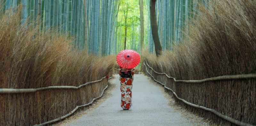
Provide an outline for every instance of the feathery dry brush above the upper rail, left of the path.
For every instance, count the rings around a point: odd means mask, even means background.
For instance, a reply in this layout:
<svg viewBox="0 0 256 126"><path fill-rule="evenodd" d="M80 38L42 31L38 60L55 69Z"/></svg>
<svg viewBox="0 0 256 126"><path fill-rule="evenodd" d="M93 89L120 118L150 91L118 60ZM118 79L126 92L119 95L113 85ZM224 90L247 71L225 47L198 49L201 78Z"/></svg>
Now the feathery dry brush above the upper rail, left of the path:
<svg viewBox="0 0 256 126"><path fill-rule="evenodd" d="M107 75L115 61L73 50L66 36L20 26L19 13L1 18L0 28L0 88L77 86Z"/></svg>

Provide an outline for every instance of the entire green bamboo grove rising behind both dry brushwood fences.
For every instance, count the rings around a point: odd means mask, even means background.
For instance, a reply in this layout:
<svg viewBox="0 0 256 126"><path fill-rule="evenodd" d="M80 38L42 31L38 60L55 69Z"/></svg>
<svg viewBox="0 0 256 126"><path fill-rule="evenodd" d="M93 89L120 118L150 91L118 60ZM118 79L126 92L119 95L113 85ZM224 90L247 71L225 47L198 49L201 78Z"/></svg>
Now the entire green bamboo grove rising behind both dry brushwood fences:
<svg viewBox="0 0 256 126"><path fill-rule="evenodd" d="M143 1L144 45L154 53L150 26L150 0ZM22 4L22 24L40 24L39 30L74 37L75 48L106 56L123 49L140 52L140 6L134 0L0 0L1 12L17 11ZM86 4L84 4L86 3ZM172 50L188 34L189 23L196 18L198 5L209 0L157 0L156 20L160 43ZM86 11L85 11L86 10ZM40 18L38 18L40 17Z"/></svg>

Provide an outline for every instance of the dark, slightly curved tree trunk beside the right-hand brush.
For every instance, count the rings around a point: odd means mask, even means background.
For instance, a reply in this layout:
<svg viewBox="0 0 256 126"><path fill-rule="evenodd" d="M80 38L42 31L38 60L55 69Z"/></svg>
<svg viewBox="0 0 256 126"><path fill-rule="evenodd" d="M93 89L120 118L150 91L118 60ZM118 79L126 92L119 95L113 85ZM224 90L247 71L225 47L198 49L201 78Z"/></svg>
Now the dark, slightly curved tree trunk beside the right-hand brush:
<svg viewBox="0 0 256 126"><path fill-rule="evenodd" d="M157 24L156 24L156 0L150 0L150 21L152 29L152 37L155 43L156 56L160 56L162 53L162 47L160 44L159 36L157 33Z"/></svg>

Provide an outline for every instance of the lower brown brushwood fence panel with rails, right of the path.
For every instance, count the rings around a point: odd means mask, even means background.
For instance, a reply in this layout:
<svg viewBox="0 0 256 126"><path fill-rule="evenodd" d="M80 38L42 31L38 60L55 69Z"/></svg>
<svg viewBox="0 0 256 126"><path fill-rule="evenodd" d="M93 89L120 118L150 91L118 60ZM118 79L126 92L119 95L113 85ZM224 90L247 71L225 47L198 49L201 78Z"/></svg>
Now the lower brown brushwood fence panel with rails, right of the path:
<svg viewBox="0 0 256 126"><path fill-rule="evenodd" d="M256 80L256 74L233 76L227 75L206 78L203 80L176 80L174 77L170 77L165 73L156 72L152 67L148 65L147 61L146 66L145 61L143 67L144 71L146 71L145 74L152 77L157 83L162 84L166 89L172 91L170 93L175 96L175 100L178 101L179 104L182 104L186 107L191 106L188 107L189 110L197 112L207 117L208 119L221 123L222 125L227 125L229 122L240 126L253 126L256 124L256 119L253 118L256 116L253 111L253 107L255 106L253 105L256 104L252 105L246 94L242 92L235 92L234 87L230 85L225 86L222 89L217 89L218 87L223 87L224 84L226 85L228 83L234 83L235 81L238 81L240 84L244 83L244 85L248 85L245 87L246 89L252 86L252 82ZM238 85L235 86L235 89L240 89L240 87L243 87ZM213 88L215 88L215 90L212 90ZM233 88L231 91L229 91L232 93L228 94L226 92L228 91L228 88ZM256 95L255 92L254 94ZM237 101L240 100L239 98L242 99L242 102L247 103L239 103ZM255 103L255 97L251 100L254 100ZM197 108L208 112L203 112ZM220 120L219 117L222 119ZM229 122L225 122L223 119Z"/></svg>

